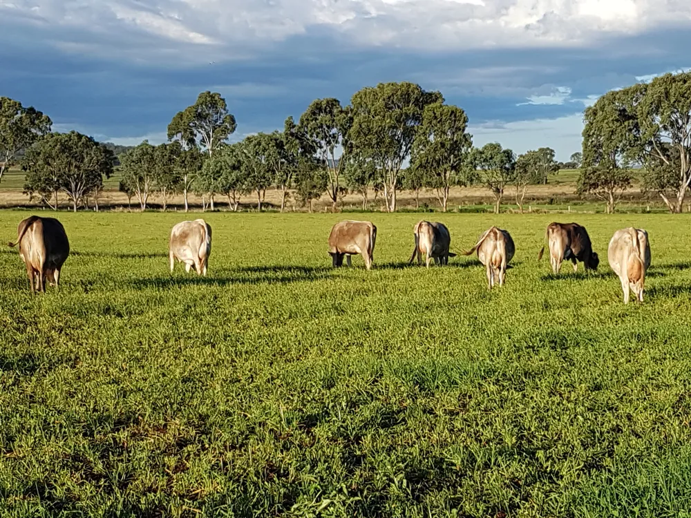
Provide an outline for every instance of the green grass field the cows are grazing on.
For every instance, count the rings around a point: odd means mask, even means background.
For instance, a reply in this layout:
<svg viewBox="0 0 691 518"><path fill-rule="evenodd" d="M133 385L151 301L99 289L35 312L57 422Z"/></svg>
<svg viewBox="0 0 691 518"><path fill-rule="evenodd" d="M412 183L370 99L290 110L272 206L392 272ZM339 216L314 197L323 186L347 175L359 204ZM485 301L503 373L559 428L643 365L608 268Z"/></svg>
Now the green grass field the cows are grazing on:
<svg viewBox="0 0 691 518"><path fill-rule="evenodd" d="M208 278L167 269L181 214L59 213L59 293L0 251L0 516L690 516L689 215L579 215L600 271L559 278L536 256L571 218L435 215L453 251L511 232L492 292L475 258L404 266L419 214L365 215L369 272L330 267L343 215L204 217Z"/></svg>

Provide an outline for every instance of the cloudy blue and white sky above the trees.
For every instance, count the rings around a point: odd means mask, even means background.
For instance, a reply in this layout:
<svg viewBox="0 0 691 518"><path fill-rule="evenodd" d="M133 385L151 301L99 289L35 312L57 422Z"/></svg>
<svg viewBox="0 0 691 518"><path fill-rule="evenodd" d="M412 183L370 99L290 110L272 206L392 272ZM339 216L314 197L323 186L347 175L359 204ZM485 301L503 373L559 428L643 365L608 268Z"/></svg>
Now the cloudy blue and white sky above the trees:
<svg viewBox="0 0 691 518"><path fill-rule="evenodd" d="M688 0L0 0L0 96L159 143L220 92L232 140L379 82L439 90L475 145L580 151L600 95L691 66Z"/></svg>

